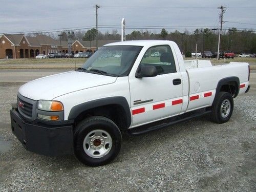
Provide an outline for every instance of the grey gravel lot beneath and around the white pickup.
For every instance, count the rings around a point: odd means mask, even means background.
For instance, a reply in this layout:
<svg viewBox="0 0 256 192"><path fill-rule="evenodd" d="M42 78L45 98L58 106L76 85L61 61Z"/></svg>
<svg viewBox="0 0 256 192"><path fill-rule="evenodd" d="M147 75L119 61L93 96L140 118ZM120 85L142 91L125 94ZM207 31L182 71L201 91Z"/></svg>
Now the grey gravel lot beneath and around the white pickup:
<svg viewBox="0 0 256 192"><path fill-rule="evenodd" d="M234 100L229 122L205 116L123 136L119 156L101 167L23 148L9 117L20 84L0 83L0 191L256 191L255 83Z"/></svg>

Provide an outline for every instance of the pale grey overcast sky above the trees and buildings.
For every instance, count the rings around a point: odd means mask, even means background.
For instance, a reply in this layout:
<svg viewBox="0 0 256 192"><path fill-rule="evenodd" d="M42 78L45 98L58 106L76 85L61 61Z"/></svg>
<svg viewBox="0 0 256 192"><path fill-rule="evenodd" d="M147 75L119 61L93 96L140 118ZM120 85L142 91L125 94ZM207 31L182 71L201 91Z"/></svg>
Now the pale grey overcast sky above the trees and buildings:
<svg viewBox="0 0 256 192"><path fill-rule="evenodd" d="M0 0L0 34L95 27L95 4L102 7L98 10L101 32L119 27L122 17L127 28L217 28L220 25L217 7L221 5L227 7L224 28L256 29L256 1L252 0ZM127 29L126 34L133 30Z"/></svg>

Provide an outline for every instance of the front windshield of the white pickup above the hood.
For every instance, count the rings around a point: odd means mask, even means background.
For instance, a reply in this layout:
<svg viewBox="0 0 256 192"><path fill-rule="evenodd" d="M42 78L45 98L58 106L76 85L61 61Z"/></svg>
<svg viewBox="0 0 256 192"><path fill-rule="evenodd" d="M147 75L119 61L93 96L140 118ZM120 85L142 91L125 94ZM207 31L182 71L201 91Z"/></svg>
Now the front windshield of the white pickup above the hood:
<svg viewBox="0 0 256 192"><path fill-rule="evenodd" d="M141 49L141 46L101 47L81 68L101 75L127 76Z"/></svg>

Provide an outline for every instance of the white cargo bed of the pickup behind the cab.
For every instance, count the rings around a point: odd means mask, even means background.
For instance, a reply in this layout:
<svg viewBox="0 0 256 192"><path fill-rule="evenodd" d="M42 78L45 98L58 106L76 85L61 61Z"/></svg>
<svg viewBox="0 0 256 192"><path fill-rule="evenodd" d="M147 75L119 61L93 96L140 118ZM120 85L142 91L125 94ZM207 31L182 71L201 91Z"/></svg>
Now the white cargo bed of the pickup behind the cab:
<svg viewBox="0 0 256 192"><path fill-rule="evenodd" d="M216 94L218 82L226 77L238 77L239 94L248 88L248 66L246 62L230 62L212 66L208 60L184 61L189 82L187 111L210 106ZM195 99L195 100L194 100Z"/></svg>

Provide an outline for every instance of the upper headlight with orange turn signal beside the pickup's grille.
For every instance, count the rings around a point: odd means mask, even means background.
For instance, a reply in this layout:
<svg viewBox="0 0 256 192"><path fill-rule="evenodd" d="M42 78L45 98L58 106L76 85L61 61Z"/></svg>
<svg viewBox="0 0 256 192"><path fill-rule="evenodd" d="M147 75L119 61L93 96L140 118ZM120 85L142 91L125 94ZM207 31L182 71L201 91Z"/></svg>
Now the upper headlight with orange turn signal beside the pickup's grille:
<svg viewBox="0 0 256 192"><path fill-rule="evenodd" d="M39 100L37 102L37 109L44 111L63 111L63 104L59 101Z"/></svg>

